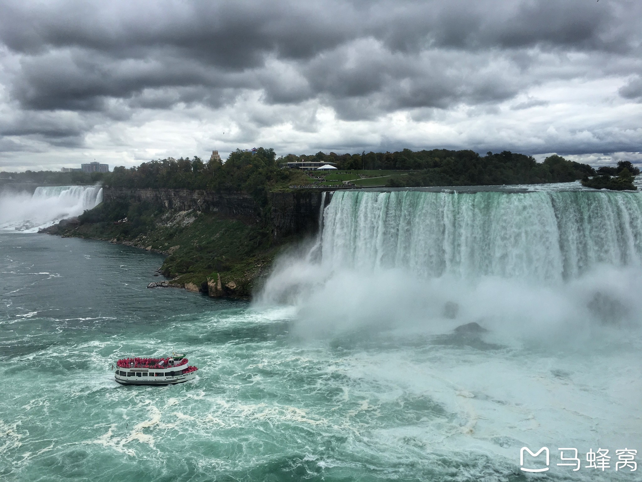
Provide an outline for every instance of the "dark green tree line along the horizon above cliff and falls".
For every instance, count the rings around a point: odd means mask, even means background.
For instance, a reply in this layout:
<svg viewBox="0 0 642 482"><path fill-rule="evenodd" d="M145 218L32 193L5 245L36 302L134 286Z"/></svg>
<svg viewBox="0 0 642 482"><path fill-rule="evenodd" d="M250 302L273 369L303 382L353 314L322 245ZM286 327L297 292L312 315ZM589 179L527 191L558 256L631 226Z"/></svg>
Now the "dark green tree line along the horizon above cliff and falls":
<svg viewBox="0 0 642 482"><path fill-rule="evenodd" d="M246 192L266 206L268 192L287 188L291 184L311 182L304 172L284 168L288 162L318 161L333 163L340 170L401 170L408 175L392 177L388 185L401 186L470 186L492 184L563 183L587 179L590 176L619 175L623 168L630 174L639 170L628 161L618 166L602 167L596 171L587 164L553 155L542 163L534 157L510 151L487 152L481 156L473 150L433 149L398 152L361 152L342 154L317 152L313 156L288 154L277 159L272 148L256 152L236 150L226 161L198 156L157 159L139 166L119 166L110 173L83 172L24 172L14 179L29 179L39 183L92 183L101 181L117 188L170 188L212 190L217 192ZM621 166L620 166L621 165ZM611 170L613 173L611 174ZM62 179L64 177L64 179ZM52 182L53 181L53 182Z"/></svg>

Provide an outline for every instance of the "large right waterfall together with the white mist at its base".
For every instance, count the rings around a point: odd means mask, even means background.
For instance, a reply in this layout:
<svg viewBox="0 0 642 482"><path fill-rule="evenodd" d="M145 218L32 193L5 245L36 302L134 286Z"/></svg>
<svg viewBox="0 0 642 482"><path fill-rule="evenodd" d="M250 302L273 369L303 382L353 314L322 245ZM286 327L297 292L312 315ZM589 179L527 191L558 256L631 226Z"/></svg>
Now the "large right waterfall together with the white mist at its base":
<svg viewBox="0 0 642 482"><path fill-rule="evenodd" d="M337 192L312 253L281 260L261 301L296 305L317 331L639 325L637 193Z"/></svg>

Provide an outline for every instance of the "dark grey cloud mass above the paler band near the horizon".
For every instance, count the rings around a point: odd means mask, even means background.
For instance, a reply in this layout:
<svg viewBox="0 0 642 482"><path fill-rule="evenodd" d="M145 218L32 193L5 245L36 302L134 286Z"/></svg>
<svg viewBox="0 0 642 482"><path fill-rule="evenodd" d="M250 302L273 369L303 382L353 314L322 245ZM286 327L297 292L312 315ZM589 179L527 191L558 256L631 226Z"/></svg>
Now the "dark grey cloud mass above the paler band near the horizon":
<svg viewBox="0 0 642 482"><path fill-rule="evenodd" d="M542 85L616 77L628 79L615 89L619 98L637 102L641 31L637 0L50 1L38 8L5 1L0 43L8 60L0 82L13 121L1 124L0 134L80 147L83 136L109 123L125 129L143 111L171 116L232 106L238 120L254 122L239 127L249 138L261 139L276 124L320 129L293 111L250 112L239 99L252 93L274 109L316 103L353 123L399 111L437 119L434 109L501 116L497 106L505 102L527 115L552 105L531 92ZM78 118L41 115L48 112ZM541 147L549 151L587 152L598 141L603 150L639 145L598 131L573 134L582 129L593 127L569 126L564 140L526 134L521 149L535 149L535 138L557 143ZM381 132L377 142L411 143L382 140L391 135ZM492 140L501 142L520 148L513 139ZM475 146L458 145L455 136L452 147Z"/></svg>

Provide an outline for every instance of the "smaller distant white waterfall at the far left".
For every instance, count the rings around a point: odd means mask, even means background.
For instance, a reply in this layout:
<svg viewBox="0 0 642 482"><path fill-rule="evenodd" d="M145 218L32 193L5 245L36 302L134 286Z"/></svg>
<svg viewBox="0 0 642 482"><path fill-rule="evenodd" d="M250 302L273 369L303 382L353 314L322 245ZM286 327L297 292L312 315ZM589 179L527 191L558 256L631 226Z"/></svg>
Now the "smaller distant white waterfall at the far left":
<svg viewBox="0 0 642 482"><path fill-rule="evenodd" d="M0 230L37 231L78 216L103 201L101 186L46 186L29 193L0 193Z"/></svg>

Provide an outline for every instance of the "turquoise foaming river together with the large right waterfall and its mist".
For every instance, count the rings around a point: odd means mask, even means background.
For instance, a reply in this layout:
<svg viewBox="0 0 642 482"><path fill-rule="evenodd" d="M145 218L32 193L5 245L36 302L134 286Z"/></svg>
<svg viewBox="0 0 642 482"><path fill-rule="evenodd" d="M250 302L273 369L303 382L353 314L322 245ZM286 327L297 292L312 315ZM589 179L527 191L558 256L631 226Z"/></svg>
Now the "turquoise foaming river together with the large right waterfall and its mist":
<svg viewBox="0 0 642 482"><path fill-rule="evenodd" d="M0 235L0 474L516 481L546 446L548 478L632 480L641 223L636 193L338 192L253 305L145 289L161 258L134 248ZM195 382L114 382L172 346Z"/></svg>

